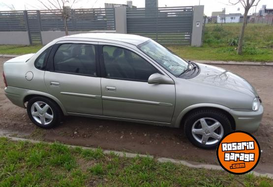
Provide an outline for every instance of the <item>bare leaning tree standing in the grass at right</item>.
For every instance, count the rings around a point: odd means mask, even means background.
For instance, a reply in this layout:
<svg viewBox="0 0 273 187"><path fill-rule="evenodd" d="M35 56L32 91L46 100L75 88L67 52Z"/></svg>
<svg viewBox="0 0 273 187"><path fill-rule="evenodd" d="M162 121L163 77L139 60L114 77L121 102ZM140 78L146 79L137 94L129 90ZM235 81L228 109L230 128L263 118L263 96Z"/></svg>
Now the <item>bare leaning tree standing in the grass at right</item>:
<svg viewBox="0 0 273 187"><path fill-rule="evenodd" d="M255 1L256 1L256 3L254 4ZM246 23L247 23L248 11L252 6L257 6L260 1L261 0L229 0L230 4L236 5L238 3L241 3L243 5L243 8L244 8L243 26L242 26L242 29L241 29L239 42L238 42L238 49L237 49L237 54L239 54L239 55L241 55L243 53L243 35L244 35L244 29L245 29Z"/></svg>

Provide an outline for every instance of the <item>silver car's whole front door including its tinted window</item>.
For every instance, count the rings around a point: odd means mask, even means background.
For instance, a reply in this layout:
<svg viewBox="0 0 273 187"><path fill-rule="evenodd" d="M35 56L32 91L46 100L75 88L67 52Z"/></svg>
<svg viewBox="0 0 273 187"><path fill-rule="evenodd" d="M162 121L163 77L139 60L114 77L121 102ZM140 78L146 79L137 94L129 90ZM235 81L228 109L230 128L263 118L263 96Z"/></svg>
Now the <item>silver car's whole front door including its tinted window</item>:
<svg viewBox="0 0 273 187"><path fill-rule="evenodd" d="M149 84L149 77L161 72L136 51L102 43L100 51L103 115L171 123L175 85Z"/></svg>

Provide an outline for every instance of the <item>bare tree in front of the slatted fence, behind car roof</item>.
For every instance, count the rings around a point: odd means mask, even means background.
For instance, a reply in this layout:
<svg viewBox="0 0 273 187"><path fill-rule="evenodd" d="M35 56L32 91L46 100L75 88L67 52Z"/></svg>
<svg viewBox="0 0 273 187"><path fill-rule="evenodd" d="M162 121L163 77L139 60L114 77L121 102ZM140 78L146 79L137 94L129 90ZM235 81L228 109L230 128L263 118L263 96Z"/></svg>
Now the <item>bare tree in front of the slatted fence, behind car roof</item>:
<svg viewBox="0 0 273 187"><path fill-rule="evenodd" d="M65 35L68 35L67 19L71 16L71 8L77 0L38 0L44 8L63 19Z"/></svg>

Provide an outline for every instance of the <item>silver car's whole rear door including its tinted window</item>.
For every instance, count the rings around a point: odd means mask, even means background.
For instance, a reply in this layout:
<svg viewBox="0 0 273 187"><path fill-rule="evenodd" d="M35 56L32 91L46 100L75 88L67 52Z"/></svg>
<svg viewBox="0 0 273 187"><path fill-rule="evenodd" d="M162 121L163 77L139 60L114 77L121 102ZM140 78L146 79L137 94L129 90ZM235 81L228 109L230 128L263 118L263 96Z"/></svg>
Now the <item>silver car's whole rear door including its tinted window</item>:
<svg viewBox="0 0 273 187"><path fill-rule="evenodd" d="M68 113L102 115L97 42L61 42L48 58L45 85Z"/></svg>

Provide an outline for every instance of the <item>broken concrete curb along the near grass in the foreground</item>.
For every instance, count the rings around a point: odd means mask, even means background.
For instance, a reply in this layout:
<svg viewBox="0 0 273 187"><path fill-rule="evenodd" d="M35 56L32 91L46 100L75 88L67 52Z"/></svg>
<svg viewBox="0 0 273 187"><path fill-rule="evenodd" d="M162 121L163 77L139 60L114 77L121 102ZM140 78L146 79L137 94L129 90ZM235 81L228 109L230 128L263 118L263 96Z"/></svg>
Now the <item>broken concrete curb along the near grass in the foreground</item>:
<svg viewBox="0 0 273 187"><path fill-rule="evenodd" d="M32 140L32 139L26 139L26 138L20 138L20 137L13 137L13 136L7 136L7 135L0 135L0 137L7 137L13 141L29 141L31 143L48 143L48 144L52 144L52 142L46 142L46 141L38 141L38 140ZM67 145L67 144L63 144L63 145ZM90 147L83 147L83 146L75 146L75 145L67 145L69 147L72 148L76 148L76 147L81 147L82 149L91 149L91 150L95 150L96 148L90 148ZM176 159L170 159L170 158L164 158L164 157L158 157L155 158L153 156L147 156L147 155L141 155L141 154L135 154L135 153L127 153L127 152L121 152L121 151L112 151L112 150L103 150L104 154L110 154L110 153L115 153L116 155L118 155L119 157L127 157L127 158L134 158L134 157L150 157L150 158L154 158L155 160L164 163L164 162L172 162L174 164L182 164L191 168L204 168L204 169L213 169L213 170L221 170L224 171L224 169L219 166L219 165L213 165L213 164L205 164L205 163L200 163L200 162L196 162L196 161L186 161L186 160L176 160ZM273 179L273 174L271 173L259 173L256 171L251 171L251 173L253 173L255 176L262 176L262 177L268 177L268 178L272 178Z"/></svg>

